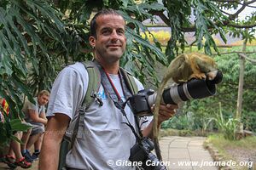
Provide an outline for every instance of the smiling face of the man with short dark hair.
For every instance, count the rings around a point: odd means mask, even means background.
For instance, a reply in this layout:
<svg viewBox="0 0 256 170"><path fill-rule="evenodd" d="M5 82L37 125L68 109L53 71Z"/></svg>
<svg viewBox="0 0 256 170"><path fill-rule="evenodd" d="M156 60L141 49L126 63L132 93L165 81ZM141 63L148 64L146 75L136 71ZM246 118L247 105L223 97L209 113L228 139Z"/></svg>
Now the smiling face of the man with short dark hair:
<svg viewBox="0 0 256 170"><path fill-rule="evenodd" d="M125 20L119 15L100 15L96 19L96 37L90 37L96 59L107 63L118 61L125 52Z"/></svg>

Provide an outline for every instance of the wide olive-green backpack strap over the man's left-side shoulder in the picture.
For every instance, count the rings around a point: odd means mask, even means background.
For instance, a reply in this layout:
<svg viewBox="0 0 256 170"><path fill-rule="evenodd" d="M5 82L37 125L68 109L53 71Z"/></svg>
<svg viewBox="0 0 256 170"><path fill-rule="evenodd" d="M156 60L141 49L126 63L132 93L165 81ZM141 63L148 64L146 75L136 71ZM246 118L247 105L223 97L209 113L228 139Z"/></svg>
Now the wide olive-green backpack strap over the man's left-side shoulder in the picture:
<svg viewBox="0 0 256 170"><path fill-rule="evenodd" d="M73 129L73 135L71 139L71 149L73 148L74 141L77 137L81 137L82 129L84 128L84 116L85 111L90 107L93 101L97 98L97 93L101 86L101 73L98 70L95 63L91 61L83 62L83 65L88 72L88 87L81 107L79 108L79 116L75 127Z"/></svg>

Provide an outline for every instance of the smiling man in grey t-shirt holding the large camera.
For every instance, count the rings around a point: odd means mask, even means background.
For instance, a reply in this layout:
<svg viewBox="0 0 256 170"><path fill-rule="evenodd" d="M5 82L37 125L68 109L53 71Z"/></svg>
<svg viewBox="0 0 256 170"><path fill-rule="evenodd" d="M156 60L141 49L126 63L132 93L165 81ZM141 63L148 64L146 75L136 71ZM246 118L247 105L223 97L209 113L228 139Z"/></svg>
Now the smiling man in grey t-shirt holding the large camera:
<svg viewBox="0 0 256 170"><path fill-rule="evenodd" d="M125 52L125 20L113 9L103 9L90 21L90 45L94 49L94 58L102 66L109 82L113 82L119 97L124 99L123 87L119 77L119 59ZM82 104L88 86L88 73L81 63L67 66L56 78L49 99L49 122L44 135L42 154L39 167L41 170L55 170L63 132L69 122L77 116L76 110ZM143 89L136 79L139 90ZM110 161L125 160L130 156L131 147L136 143L135 135L125 123L125 116L104 96L105 89L100 87L103 105L90 105L85 112L84 133L76 138L73 150L67 154L67 169L133 169L133 167L118 167ZM177 105L162 105L160 122L174 114ZM133 127L135 118L128 105L125 113ZM149 119L148 119L149 120ZM151 133L153 122L145 127L143 136Z"/></svg>

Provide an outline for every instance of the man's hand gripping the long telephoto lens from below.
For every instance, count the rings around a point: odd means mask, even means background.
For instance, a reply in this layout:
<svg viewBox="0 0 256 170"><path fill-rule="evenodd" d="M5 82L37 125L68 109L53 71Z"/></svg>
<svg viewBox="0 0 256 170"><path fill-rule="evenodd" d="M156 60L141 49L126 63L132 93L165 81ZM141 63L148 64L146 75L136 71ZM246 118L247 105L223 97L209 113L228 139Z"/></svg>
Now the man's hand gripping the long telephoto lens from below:
<svg viewBox="0 0 256 170"><path fill-rule="evenodd" d="M162 122L174 116L177 108L178 108L178 105L171 105L171 104L160 105L158 126L160 126ZM154 105L151 107L151 110L154 111Z"/></svg>

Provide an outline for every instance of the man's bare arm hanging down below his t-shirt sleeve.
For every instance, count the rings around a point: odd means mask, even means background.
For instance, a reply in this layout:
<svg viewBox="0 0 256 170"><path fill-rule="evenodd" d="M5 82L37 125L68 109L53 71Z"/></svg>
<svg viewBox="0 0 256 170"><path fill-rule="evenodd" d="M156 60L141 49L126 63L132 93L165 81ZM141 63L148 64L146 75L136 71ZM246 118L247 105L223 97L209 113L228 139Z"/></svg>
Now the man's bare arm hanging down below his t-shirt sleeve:
<svg viewBox="0 0 256 170"><path fill-rule="evenodd" d="M40 170L56 170L58 168L61 140L69 121L70 118L61 113L55 113L55 116L49 118L39 159Z"/></svg>

